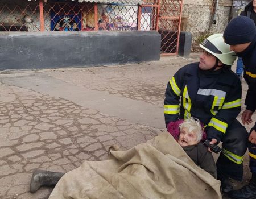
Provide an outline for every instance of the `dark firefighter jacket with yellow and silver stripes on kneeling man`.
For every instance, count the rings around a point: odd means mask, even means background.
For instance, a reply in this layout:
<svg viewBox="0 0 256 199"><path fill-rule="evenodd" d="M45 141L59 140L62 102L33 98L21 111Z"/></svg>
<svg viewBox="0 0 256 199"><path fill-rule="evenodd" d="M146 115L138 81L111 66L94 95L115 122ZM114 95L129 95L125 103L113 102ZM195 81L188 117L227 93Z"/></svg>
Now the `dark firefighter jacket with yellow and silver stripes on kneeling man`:
<svg viewBox="0 0 256 199"><path fill-rule="evenodd" d="M199 63L185 65L167 84L166 125L192 116L204 123L208 139L220 142L241 111L241 92L241 82L230 67L203 71Z"/></svg>

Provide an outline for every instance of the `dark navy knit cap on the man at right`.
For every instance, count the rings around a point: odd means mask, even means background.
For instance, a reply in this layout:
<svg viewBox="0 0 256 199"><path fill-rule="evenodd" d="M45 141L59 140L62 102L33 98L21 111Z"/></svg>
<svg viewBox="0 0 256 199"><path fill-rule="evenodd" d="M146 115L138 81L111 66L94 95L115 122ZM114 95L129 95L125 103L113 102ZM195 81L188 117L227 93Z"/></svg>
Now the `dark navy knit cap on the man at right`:
<svg viewBox="0 0 256 199"><path fill-rule="evenodd" d="M254 21L246 16L237 16L230 20L225 28L223 37L229 45L244 44L251 42L256 35Z"/></svg>

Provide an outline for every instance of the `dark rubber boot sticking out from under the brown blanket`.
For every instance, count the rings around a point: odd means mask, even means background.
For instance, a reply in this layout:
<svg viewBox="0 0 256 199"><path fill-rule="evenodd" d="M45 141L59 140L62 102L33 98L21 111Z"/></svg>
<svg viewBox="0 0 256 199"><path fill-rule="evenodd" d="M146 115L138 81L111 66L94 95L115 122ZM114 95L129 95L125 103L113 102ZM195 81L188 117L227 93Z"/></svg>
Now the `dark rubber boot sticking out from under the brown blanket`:
<svg viewBox="0 0 256 199"><path fill-rule="evenodd" d="M30 192L35 193L41 186L55 186L64 174L44 170L34 171L30 181Z"/></svg>

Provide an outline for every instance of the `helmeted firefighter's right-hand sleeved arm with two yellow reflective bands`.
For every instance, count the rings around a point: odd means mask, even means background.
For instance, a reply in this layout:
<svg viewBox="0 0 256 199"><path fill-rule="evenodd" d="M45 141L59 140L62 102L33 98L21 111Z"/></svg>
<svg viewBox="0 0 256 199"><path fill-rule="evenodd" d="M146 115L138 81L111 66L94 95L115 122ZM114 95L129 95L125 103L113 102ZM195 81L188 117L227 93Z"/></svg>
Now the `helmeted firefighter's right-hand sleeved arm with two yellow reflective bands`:
<svg viewBox="0 0 256 199"><path fill-rule="evenodd" d="M232 88L229 89L229 92L226 93L222 107L218 110L218 113L212 117L206 127L207 139L216 139L218 143L222 137L225 136L226 129L241 111L241 96L241 82L236 78L236 82L234 82Z"/></svg>

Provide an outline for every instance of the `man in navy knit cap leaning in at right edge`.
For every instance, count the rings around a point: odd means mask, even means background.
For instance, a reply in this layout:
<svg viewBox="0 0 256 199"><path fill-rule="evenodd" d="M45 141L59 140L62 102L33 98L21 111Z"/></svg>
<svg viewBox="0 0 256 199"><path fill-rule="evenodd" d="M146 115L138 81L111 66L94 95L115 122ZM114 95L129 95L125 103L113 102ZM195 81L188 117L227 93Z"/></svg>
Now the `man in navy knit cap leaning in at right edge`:
<svg viewBox="0 0 256 199"><path fill-rule="evenodd" d="M253 1L256 7L256 1ZM225 28L224 40L230 45L230 50L242 57L244 64L243 77L248 84L245 98L246 109L242 113L243 124L252 123L251 116L256 110L256 27L254 21L246 16L238 16L231 20ZM230 192L232 198L256 198L256 123L249 134L250 183L243 188Z"/></svg>

